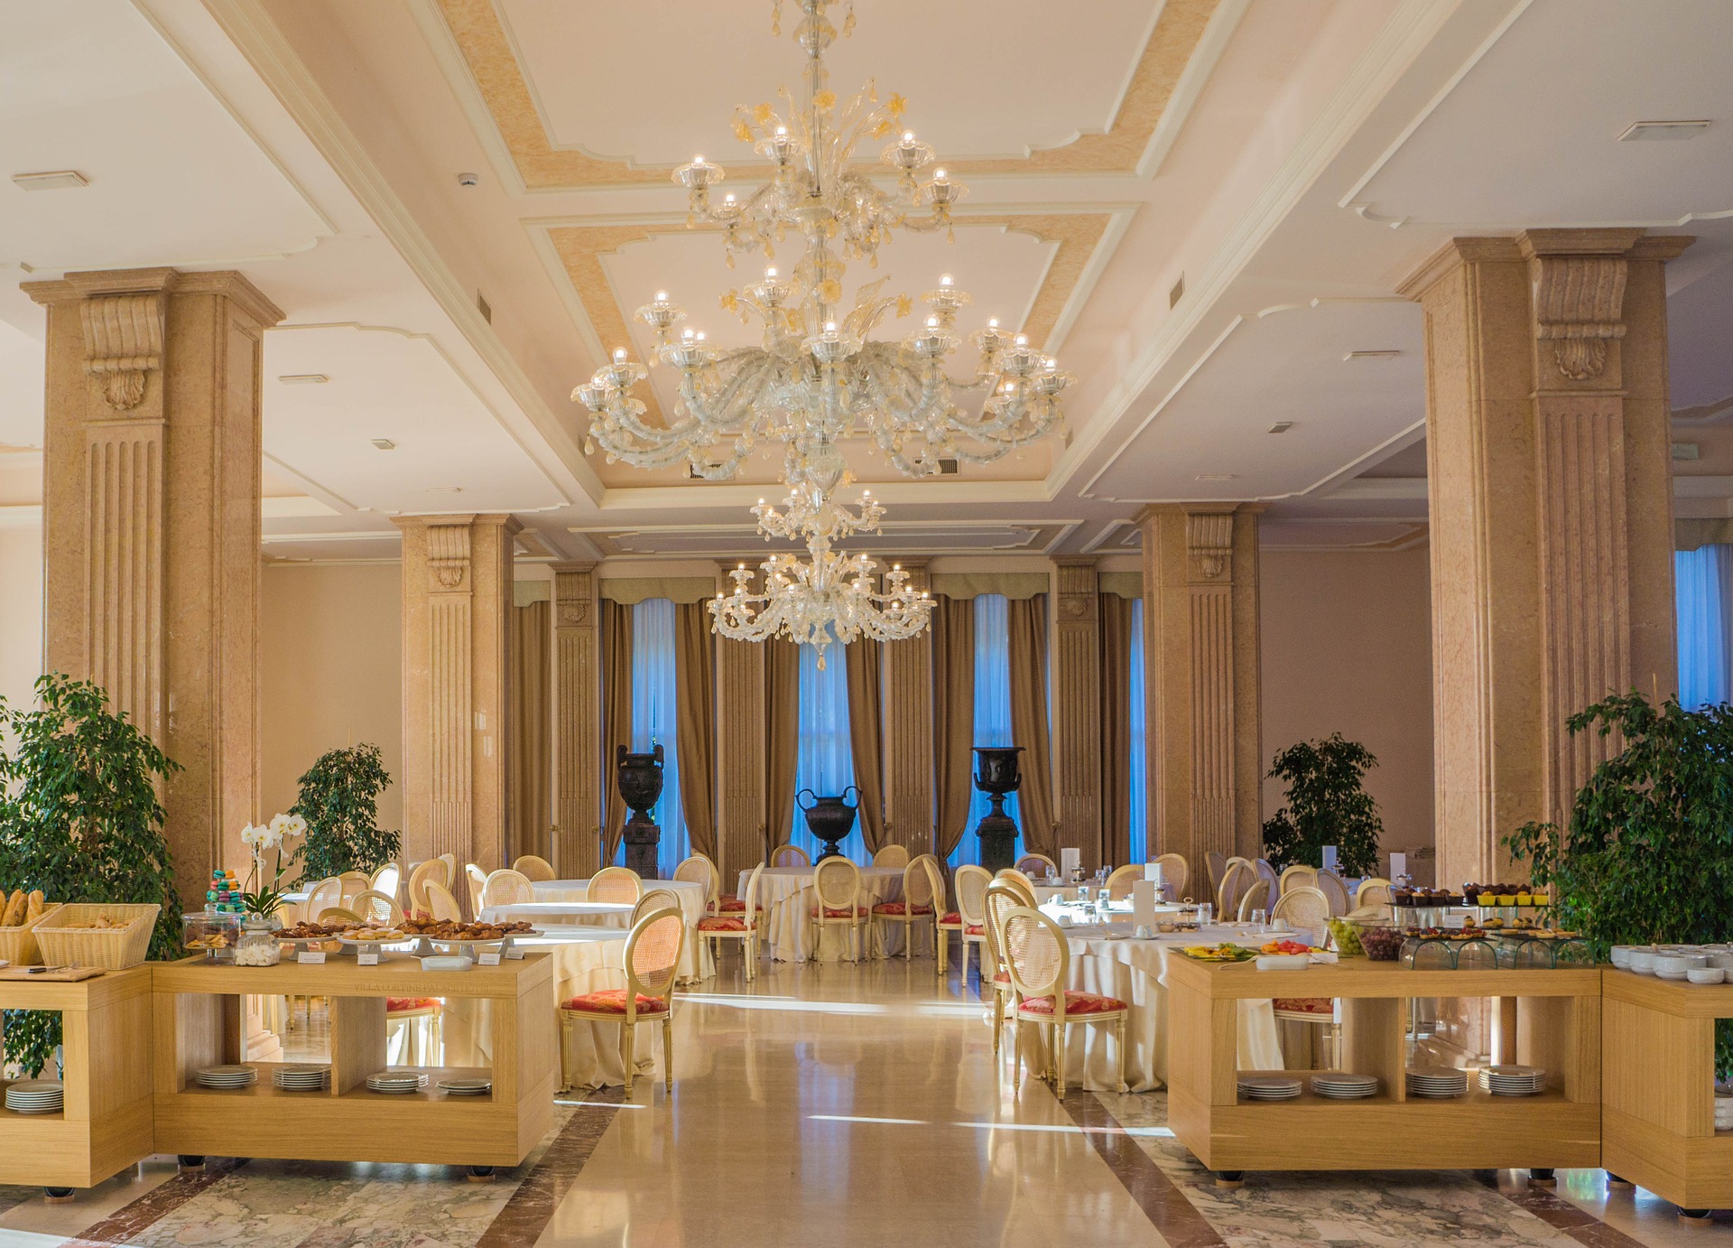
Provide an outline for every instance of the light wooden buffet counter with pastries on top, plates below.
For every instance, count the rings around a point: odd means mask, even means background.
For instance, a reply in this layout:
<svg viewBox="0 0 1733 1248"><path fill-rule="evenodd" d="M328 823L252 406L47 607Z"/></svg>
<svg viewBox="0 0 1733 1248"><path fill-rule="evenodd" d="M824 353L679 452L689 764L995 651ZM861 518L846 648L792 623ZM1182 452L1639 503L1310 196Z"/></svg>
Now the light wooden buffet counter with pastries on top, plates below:
<svg viewBox="0 0 1733 1248"><path fill-rule="evenodd" d="M423 971L400 955L369 967L354 959L274 967L187 959L154 971L158 1153L513 1167L553 1125L560 1061L546 953L470 971ZM248 1063L260 1075L246 1089L194 1082L201 1066L239 1061L244 995L329 1000L329 1090L274 1087L279 1063ZM371 1092L367 1076L386 1069L386 997L490 1000L492 1069L393 1066L426 1073L428 1085L409 1094ZM492 1078L487 1095L449 1095L437 1087L442 1078L477 1076Z"/></svg>

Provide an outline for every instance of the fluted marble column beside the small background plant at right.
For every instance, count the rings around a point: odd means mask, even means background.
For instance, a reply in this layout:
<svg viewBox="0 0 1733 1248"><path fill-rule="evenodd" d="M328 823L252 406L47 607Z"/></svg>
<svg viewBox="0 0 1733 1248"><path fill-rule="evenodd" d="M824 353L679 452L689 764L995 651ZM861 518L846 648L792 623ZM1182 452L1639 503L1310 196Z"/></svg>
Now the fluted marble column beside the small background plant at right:
<svg viewBox="0 0 1733 1248"><path fill-rule="evenodd" d="M1151 855L1185 855L1192 881L1208 879L1210 851L1253 856L1262 842L1262 510L1178 503L1139 517Z"/></svg>

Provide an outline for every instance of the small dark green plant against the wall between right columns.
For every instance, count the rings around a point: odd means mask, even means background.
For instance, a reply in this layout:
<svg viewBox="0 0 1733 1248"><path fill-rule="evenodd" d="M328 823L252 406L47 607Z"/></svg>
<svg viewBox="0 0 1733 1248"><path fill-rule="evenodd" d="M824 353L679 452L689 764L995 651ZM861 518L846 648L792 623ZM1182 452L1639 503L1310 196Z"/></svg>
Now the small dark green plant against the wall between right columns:
<svg viewBox="0 0 1733 1248"><path fill-rule="evenodd" d="M1324 846L1336 846L1343 875L1378 874L1378 803L1360 787L1378 766L1359 742L1333 733L1289 745L1270 761L1270 775L1288 782L1288 804L1263 822L1263 855L1277 870L1322 867Z"/></svg>

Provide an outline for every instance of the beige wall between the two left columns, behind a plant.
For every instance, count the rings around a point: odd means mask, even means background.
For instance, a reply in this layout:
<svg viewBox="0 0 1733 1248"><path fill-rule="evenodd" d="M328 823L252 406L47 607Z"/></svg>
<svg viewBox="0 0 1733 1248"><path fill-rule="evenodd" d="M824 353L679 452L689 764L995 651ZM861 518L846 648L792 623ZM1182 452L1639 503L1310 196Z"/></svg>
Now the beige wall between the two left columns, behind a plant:
<svg viewBox="0 0 1733 1248"><path fill-rule="evenodd" d="M404 827L402 569L267 563L258 640L258 818L295 804L295 782L329 749L373 742L392 787L380 827Z"/></svg>

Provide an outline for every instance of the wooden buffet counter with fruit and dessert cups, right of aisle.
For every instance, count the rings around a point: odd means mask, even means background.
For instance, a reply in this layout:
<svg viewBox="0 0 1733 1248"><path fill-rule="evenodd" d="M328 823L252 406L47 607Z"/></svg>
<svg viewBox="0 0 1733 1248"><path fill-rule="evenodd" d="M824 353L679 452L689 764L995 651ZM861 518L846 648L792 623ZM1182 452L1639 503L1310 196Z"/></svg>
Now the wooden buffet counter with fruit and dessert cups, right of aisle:
<svg viewBox="0 0 1733 1248"><path fill-rule="evenodd" d="M1333 997L1341 1002L1341 1068L1381 1080L1378 1095L1319 1097L1314 1071L1293 1101L1241 1101L1234 1066L1239 1000ZM1548 1087L1496 1097L1409 1097L1404 1071L1409 1000L1492 997L1515 1002L1515 1057ZM1600 969L1412 971L1345 959L1301 971L1203 964L1168 971L1168 1125L1227 1180L1244 1170L1457 1170L1596 1167L1601 1158ZM1277 1073L1277 1071L1258 1071Z"/></svg>

